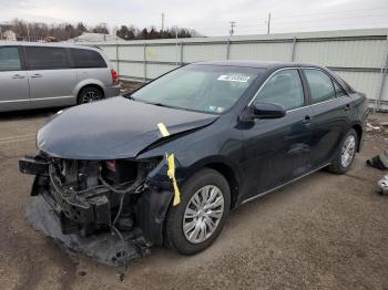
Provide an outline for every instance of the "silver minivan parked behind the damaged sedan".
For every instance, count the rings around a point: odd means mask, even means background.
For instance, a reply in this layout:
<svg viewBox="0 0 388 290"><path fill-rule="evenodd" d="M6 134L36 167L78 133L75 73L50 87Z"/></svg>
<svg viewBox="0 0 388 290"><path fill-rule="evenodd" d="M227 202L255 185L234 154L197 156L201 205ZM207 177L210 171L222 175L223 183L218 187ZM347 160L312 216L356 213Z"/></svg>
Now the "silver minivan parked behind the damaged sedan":
<svg viewBox="0 0 388 290"><path fill-rule="evenodd" d="M119 95L118 73L92 46L0 42L0 112Z"/></svg>

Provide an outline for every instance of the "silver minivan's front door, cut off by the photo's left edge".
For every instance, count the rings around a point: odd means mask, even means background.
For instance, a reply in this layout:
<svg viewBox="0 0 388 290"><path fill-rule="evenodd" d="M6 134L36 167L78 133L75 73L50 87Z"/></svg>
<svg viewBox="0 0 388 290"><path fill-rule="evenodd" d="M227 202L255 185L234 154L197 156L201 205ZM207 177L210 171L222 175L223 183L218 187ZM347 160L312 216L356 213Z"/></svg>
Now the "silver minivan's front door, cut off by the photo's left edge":
<svg viewBox="0 0 388 290"><path fill-rule="evenodd" d="M0 111L30 107L29 83L20 46L0 46Z"/></svg>

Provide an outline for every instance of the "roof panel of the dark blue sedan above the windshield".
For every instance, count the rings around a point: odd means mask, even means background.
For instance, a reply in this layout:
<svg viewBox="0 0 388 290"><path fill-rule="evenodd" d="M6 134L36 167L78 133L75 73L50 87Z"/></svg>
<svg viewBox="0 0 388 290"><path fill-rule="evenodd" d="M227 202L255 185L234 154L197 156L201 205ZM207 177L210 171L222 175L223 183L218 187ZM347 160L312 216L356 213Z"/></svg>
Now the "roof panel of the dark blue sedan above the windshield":
<svg viewBox="0 0 388 290"><path fill-rule="evenodd" d="M295 66L319 68L317 65L302 64L302 63L295 63L295 62L247 61L247 60L206 61L206 62L196 62L195 64L231 65L231 66L255 68L255 69L279 69L279 68L295 68Z"/></svg>

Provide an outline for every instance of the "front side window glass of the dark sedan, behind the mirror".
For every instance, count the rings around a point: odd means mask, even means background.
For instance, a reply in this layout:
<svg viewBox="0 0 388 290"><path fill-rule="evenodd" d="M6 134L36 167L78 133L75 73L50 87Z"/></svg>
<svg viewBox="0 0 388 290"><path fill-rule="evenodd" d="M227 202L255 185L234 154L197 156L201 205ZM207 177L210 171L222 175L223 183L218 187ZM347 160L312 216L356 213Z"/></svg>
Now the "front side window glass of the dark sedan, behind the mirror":
<svg viewBox="0 0 388 290"><path fill-rule="evenodd" d="M304 106L305 97L298 71L290 69L275 73L255 101L280 104L286 111Z"/></svg>

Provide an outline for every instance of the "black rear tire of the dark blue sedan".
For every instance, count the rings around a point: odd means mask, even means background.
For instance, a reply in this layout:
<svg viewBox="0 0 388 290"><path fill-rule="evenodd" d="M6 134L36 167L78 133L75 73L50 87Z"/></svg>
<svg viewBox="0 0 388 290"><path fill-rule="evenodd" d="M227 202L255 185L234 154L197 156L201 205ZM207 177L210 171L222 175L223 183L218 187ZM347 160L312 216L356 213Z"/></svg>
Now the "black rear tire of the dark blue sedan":
<svg viewBox="0 0 388 290"><path fill-rule="evenodd" d="M353 143L354 143L353 154L350 156L350 159L347 159L347 162L343 162L344 147L346 146L347 142L349 142L350 139L353 139ZM350 128L348 133L344 136L341 142L339 143L339 146L334 156L333 163L327 167L327 170L334 174L345 174L350 168L353 162L355 160L357 144L358 144L358 135L354 128Z"/></svg>

